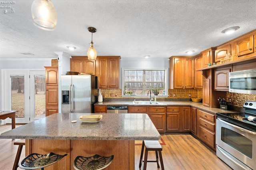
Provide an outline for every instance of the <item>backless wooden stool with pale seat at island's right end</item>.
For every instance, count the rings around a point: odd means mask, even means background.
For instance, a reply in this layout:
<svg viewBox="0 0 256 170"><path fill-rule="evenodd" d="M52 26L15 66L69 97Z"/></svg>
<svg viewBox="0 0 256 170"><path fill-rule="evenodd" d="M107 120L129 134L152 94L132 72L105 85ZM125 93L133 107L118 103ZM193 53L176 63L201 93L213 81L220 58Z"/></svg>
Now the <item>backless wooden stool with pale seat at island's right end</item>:
<svg viewBox="0 0 256 170"><path fill-rule="evenodd" d="M160 164L161 164L161 170L164 170L164 163L163 163L163 158L162 158L162 146L160 145L159 141L143 141L142 142L139 168L141 167L142 162L143 162L142 157L143 157L144 147L146 149L145 149L145 155L144 155L143 170L146 170L147 162L156 162L157 167L160 168L159 163L158 163L159 159L160 159ZM156 152L156 160L148 160L148 151ZM159 158L158 158L158 154L159 154Z"/></svg>

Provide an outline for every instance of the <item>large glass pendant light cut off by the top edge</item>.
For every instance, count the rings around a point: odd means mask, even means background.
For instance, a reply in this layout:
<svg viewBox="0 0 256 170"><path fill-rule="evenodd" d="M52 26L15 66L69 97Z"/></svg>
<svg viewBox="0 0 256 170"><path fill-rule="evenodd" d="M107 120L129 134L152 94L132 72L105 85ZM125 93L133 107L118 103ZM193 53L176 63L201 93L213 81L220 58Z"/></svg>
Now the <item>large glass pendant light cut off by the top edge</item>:
<svg viewBox="0 0 256 170"><path fill-rule="evenodd" d="M31 6L33 23L38 28L53 31L57 24L57 12L51 0L34 0Z"/></svg>

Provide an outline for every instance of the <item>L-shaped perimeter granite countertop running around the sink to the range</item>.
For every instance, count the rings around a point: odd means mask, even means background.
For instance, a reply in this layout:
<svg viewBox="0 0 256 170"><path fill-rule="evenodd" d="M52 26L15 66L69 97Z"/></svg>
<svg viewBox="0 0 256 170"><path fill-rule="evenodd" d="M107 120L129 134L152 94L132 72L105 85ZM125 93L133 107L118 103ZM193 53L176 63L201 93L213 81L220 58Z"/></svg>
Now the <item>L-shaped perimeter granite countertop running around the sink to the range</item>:
<svg viewBox="0 0 256 170"><path fill-rule="evenodd" d="M146 100L145 100L146 101ZM179 102L179 101L158 101L160 104L143 104L143 105L138 105L138 104L133 104L132 101L108 101L108 102L98 102L94 104L94 106L191 106L191 107L196 107L198 109L202 109L204 111L208 111L210 113L216 114L216 113L239 113L238 111L233 111L233 110L224 110L224 109L219 109L219 108L212 108L212 107L207 107L203 106L201 102Z"/></svg>

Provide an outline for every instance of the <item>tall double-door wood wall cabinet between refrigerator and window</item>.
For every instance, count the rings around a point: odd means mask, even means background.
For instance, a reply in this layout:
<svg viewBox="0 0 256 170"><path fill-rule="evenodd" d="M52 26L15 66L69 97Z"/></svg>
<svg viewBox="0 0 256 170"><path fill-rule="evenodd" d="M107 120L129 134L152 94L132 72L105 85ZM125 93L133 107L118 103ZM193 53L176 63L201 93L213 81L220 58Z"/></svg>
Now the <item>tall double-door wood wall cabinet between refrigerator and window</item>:
<svg viewBox="0 0 256 170"><path fill-rule="evenodd" d="M119 88L120 56L97 57L96 76L98 88Z"/></svg>

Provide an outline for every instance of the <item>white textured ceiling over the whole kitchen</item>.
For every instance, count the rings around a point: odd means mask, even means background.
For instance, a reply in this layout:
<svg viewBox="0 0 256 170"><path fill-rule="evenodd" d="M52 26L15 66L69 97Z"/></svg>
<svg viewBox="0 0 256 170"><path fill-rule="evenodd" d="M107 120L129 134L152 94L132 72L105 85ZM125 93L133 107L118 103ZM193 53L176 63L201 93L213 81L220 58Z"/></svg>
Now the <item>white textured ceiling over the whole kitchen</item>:
<svg viewBox="0 0 256 170"><path fill-rule="evenodd" d="M33 25L32 0L8 2L15 2L8 4L15 13L0 8L0 59L56 58L54 52L87 55L87 27L97 29L97 55L122 59L169 58L188 50L197 55L256 29L256 0L52 0L58 15L54 31ZM233 26L240 29L221 33Z"/></svg>

